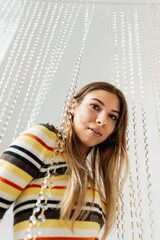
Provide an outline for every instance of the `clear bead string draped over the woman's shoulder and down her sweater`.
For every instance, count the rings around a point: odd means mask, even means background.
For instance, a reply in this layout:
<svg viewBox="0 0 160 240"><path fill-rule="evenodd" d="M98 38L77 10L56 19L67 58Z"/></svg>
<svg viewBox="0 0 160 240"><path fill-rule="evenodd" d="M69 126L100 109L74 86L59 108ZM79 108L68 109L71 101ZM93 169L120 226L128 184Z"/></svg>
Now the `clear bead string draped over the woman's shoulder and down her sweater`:
<svg viewBox="0 0 160 240"><path fill-rule="evenodd" d="M88 10L88 9L87 9ZM92 14L91 16L93 15L93 11L92 11ZM75 67L75 70L74 70L74 73L73 73L73 78L71 80L71 87L69 88L69 97L70 97L70 93L74 94L75 93L75 88L77 86L77 81L78 81L78 78L79 78L79 71L81 69L81 63L82 63L82 50L84 50L84 44L85 44L85 41L86 41L86 37L87 37L87 34L88 34L88 31L89 31L89 26L90 26L90 22L91 22L91 18L88 20L88 11L87 11L87 14L85 16L85 30L84 30L84 35L83 35L83 38L82 38L82 45L81 45L81 48L80 48L80 52L79 52L79 55L78 55L78 59L77 59L77 64L76 64L76 67ZM88 23L89 22L89 23ZM67 99L68 99L68 96L67 96ZM69 99L70 100L70 99ZM67 103L67 102L66 102ZM68 108L68 111L66 112L66 114L68 114L69 112L69 106L68 104L65 105L65 108ZM62 117L65 117L66 118L66 115L63 115ZM63 125L63 129L62 129L62 125L61 125L61 132L64 131L65 134L66 134L66 127L68 126L64 126ZM65 136L64 135L58 135L59 137L62 137L62 139L59 138L59 141L57 141L57 145L56 147L54 148L54 151L55 151L55 155L53 156L53 158L51 159L51 162L50 162L50 165L53 164L53 162L57 162L58 164L58 152L62 152L64 150L63 146L64 146L64 138ZM47 202L48 202L48 199L51 197L51 188L53 188L54 186L54 177L57 175L56 173L56 168L54 169L54 173L52 174L51 176L51 168L48 169L47 171L47 174L44 178L44 181L42 183L42 188L41 188L41 191L40 191L40 194L39 194L39 197L38 197L38 200L36 202L36 206L35 208L33 209L33 213L30 217L30 224L29 224L29 228L27 230L27 236L25 238L25 240L27 239L30 239L33 237L33 240L35 240L41 233L37 230L40 226L40 223L41 222L44 222L45 221L45 210L47 210ZM48 182L49 178L51 179L50 182ZM49 185L48 185L49 183ZM44 190L47 188L47 192L44 193ZM42 203L42 201L44 201ZM36 218L36 213L39 213L39 216ZM32 233L32 228L35 228L35 231Z"/></svg>

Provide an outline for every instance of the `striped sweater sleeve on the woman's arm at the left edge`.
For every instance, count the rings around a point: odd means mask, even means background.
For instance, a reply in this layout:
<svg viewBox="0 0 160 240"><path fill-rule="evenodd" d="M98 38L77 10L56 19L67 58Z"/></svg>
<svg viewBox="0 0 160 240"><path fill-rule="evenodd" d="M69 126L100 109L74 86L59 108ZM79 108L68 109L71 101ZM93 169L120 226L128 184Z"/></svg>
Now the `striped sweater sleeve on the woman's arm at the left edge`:
<svg viewBox="0 0 160 240"><path fill-rule="evenodd" d="M0 157L0 221L53 154L56 134L47 125L24 131Z"/></svg>

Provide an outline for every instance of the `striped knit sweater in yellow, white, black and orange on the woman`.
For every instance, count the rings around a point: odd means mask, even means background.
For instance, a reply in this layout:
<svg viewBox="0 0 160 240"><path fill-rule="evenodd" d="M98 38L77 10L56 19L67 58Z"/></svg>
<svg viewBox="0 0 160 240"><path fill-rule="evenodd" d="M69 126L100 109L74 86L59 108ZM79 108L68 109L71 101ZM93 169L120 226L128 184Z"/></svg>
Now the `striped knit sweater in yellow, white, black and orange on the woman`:
<svg viewBox="0 0 160 240"><path fill-rule="evenodd" d="M54 154L57 136L54 127L48 124L36 125L23 132L0 158L0 219L14 202L14 240L26 236L29 217L40 193L41 183ZM56 164L56 163L55 163ZM55 164L52 165L54 171ZM104 203L95 189L95 202L85 220L77 220L72 232L63 220L59 219L58 203L65 192L69 176L66 172L65 153L59 155L45 222L40 224L41 236L37 240L99 239L103 226ZM88 188L84 211L90 209L93 192Z"/></svg>

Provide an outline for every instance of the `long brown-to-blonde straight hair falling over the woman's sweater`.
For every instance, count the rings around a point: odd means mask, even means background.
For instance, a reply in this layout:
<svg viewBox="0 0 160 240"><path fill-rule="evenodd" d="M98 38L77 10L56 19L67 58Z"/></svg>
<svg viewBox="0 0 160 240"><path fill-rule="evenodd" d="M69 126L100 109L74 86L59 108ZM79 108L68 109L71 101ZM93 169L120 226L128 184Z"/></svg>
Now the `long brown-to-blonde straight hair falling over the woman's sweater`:
<svg viewBox="0 0 160 240"><path fill-rule="evenodd" d="M70 175L66 192L61 201L61 218L72 222L72 229L77 218L82 217L82 207L85 204L88 184L93 190L99 186L98 191L106 202L105 227L102 239L105 239L116 220L116 202L120 199L122 186L126 180L129 162L126 151L126 128L128 121L127 103L123 93L106 82L93 82L78 91L75 100L81 104L84 97L94 90L106 90L118 96L120 101L120 117L112 134L101 144L90 149L91 172L86 159L81 156L78 147L78 138L73 125L66 139L66 153L68 173ZM96 171L99 178L97 179ZM123 181L121 181L123 179ZM121 184L120 184L121 182ZM104 193L101 192L101 186ZM74 209L74 211L73 211ZM83 216L84 218L86 216Z"/></svg>

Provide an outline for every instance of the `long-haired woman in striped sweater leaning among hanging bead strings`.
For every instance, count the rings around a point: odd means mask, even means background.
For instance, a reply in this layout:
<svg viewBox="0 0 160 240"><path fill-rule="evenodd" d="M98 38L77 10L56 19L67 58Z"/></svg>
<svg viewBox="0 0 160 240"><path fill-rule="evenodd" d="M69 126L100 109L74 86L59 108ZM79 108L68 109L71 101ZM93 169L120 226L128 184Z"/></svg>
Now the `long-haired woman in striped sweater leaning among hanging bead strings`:
<svg viewBox="0 0 160 240"><path fill-rule="evenodd" d="M128 172L124 95L93 82L70 106L63 132L33 126L1 157L0 218L14 202L16 240L99 239L104 224L105 239L114 226Z"/></svg>

